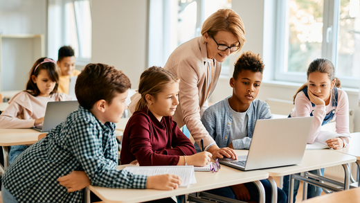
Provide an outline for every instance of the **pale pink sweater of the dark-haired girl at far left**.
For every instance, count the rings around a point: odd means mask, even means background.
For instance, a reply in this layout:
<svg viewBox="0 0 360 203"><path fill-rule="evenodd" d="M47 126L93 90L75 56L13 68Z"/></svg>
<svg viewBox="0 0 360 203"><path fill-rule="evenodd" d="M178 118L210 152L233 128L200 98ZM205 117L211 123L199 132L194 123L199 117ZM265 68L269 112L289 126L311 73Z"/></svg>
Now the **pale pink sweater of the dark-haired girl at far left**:
<svg viewBox="0 0 360 203"><path fill-rule="evenodd" d="M0 115L0 128L30 128L35 119L45 116L49 101L71 100L71 96L55 93L53 96L32 96L20 91L9 100L8 108Z"/></svg>

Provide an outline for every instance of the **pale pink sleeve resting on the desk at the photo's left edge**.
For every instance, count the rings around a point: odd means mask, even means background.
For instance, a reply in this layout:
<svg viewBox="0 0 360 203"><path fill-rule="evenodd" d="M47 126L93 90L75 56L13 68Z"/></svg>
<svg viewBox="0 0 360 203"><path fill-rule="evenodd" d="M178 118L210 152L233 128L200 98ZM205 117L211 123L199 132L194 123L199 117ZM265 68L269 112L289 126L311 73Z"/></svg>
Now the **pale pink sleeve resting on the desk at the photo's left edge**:
<svg viewBox="0 0 360 203"><path fill-rule="evenodd" d="M35 119L19 118L22 112L26 111L24 107L16 102L10 105L0 115L0 128L30 128L34 126Z"/></svg>

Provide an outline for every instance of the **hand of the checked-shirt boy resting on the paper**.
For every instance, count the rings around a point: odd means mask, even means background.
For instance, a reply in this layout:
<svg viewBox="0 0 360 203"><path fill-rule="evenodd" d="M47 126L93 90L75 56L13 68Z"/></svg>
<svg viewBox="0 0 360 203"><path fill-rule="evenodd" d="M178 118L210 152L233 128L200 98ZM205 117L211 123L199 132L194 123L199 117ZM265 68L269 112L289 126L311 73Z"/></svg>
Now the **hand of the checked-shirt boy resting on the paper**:
<svg viewBox="0 0 360 203"><path fill-rule="evenodd" d="M172 191L179 185L181 185L181 179L172 174L149 176L146 182L146 188L162 191Z"/></svg>

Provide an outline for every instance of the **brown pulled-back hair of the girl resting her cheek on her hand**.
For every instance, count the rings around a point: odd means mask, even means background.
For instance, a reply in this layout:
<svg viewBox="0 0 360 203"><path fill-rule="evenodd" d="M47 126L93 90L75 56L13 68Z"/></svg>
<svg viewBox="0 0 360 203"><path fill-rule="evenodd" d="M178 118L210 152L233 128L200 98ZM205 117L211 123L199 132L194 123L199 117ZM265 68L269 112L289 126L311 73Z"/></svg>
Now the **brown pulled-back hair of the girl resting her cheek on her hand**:
<svg viewBox="0 0 360 203"><path fill-rule="evenodd" d="M339 78L335 77L335 68L334 68L334 65L332 64L332 62L330 60L327 60L325 58L317 58L316 60L313 60L309 64L309 68L307 69L307 73L306 73L307 74L307 80L309 80L309 74L314 73L314 72L327 73L329 75L330 81L332 81L334 79L336 80L335 87L341 88L341 82L340 82ZM301 86L296 91L296 94L293 97L294 98L294 104L295 104L296 95L300 91L305 89L305 87L307 87L307 82L305 82L305 84L303 86Z"/></svg>

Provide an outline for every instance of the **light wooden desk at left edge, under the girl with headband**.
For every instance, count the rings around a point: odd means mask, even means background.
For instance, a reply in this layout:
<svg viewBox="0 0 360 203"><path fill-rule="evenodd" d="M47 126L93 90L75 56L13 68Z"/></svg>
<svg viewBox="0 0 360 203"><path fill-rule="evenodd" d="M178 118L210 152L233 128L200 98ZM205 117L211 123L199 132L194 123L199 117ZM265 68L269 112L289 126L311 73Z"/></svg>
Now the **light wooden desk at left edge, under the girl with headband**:
<svg viewBox="0 0 360 203"><path fill-rule="evenodd" d="M42 132L32 129L0 129L0 146L3 147L3 165L0 172L3 174L9 166L8 146L30 145L37 142L37 136Z"/></svg>

